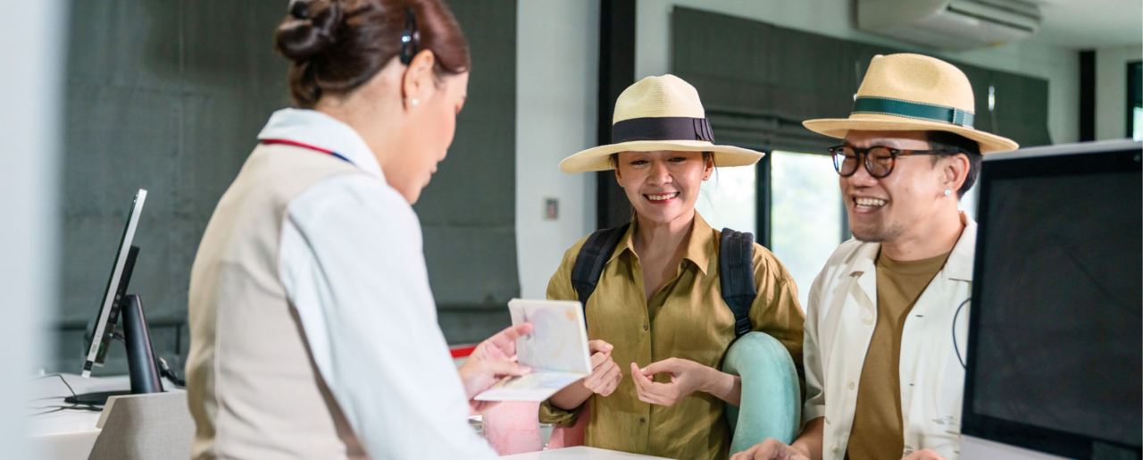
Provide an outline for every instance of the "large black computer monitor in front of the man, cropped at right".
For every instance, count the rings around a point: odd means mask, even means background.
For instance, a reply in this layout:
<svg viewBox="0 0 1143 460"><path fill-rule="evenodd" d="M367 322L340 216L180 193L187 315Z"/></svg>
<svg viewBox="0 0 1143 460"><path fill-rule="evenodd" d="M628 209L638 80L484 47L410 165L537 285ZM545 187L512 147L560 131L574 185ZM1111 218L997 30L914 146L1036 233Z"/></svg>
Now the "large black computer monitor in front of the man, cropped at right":
<svg viewBox="0 0 1143 460"><path fill-rule="evenodd" d="M1074 459L1140 458L1141 156L1129 141L985 156L965 458L1038 458L985 451L988 442Z"/></svg>

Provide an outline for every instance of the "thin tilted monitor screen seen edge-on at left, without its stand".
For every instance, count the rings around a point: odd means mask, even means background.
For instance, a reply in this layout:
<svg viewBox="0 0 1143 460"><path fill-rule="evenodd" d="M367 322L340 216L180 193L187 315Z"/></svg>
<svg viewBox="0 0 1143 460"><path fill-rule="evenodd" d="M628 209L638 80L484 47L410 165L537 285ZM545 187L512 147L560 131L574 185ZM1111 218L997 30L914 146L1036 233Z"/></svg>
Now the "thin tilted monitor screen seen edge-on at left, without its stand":
<svg viewBox="0 0 1143 460"><path fill-rule="evenodd" d="M139 214L143 212L145 201L146 190L139 189L127 214L127 227L123 228L123 235L119 238L115 262L111 265L111 276L107 278L107 286L103 290L99 310L91 325L87 358L83 360L85 378L91 376L91 367L103 366L107 348L114 339L115 325L119 324L119 308L123 296L127 295L131 271L135 268L135 257L138 255L138 248L133 247L131 243L135 240L135 229L138 227Z"/></svg>

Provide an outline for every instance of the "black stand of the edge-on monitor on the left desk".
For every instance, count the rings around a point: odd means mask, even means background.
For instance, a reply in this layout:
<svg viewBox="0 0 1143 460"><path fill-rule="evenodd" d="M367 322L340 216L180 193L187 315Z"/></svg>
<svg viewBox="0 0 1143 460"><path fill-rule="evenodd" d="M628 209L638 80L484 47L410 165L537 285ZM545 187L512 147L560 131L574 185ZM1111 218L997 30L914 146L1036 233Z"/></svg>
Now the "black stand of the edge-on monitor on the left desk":
<svg viewBox="0 0 1143 460"><path fill-rule="evenodd" d="M155 365L154 350L151 349L151 332L143 316L143 302L137 294L128 294L120 306L120 318L123 322L123 344L127 347L127 368L130 374L131 389L120 391L85 392L64 398L67 404L85 404L102 406L107 398L123 395L142 395L162 392L159 380L159 367Z"/></svg>

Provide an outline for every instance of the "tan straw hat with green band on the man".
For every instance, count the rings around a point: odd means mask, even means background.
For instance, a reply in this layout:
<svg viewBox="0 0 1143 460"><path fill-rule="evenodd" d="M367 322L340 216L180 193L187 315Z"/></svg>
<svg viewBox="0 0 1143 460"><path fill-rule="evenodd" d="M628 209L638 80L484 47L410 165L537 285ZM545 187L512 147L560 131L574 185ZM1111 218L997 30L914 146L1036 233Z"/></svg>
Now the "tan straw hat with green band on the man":
<svg viewBox="0 0 1143 460"><path fill-rule="evenodd" d="M944 130L976 141L981 153L1016 150L1018 144L973 128L973 86L944 61L917 54L877 55L857 89L849 118L804 121L831 137L855 130Z"/></svg>

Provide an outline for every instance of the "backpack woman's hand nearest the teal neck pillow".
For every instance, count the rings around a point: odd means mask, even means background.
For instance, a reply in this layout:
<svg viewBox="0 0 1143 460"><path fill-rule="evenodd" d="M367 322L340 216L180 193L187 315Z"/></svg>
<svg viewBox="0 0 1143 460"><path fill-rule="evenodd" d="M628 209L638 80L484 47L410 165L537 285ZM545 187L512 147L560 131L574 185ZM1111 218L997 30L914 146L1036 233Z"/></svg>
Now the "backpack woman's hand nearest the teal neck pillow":
<svg viewBox="0 0 1143 460"><path fill-rule="evenodd" d="M670 373L670 383L652 381L655 374ZM713 368L689 359L668 358L639 368L631 363L631 379L636 382L639 400L650 404L670 406L695 391L708 391L720 380L720 376L732 378Z"/></svg>

